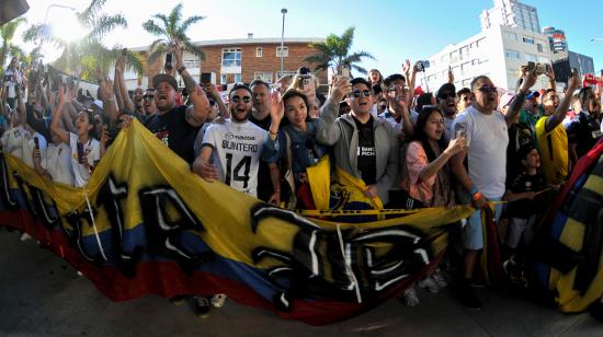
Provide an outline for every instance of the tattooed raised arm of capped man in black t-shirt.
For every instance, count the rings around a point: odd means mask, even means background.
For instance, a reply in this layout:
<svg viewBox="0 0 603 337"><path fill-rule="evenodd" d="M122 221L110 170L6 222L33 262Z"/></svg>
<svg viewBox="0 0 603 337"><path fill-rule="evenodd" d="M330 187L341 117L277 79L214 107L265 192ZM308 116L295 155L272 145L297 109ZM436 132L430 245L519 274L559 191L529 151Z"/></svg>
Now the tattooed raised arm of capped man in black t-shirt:
<svg viewBox="0 0 603 337"><path fill-rule="evenodd" d="M189 73L189 70L184 67L182 48L178 44L174 48L174 56L177 70L182 77L182 81L184 81L184 85L189 92L189 98L193 102L193 105L186 109L186 123L193 127L200 127L209 114L209 101L207 101L205 91L201 89L191 73Z"/></svg>

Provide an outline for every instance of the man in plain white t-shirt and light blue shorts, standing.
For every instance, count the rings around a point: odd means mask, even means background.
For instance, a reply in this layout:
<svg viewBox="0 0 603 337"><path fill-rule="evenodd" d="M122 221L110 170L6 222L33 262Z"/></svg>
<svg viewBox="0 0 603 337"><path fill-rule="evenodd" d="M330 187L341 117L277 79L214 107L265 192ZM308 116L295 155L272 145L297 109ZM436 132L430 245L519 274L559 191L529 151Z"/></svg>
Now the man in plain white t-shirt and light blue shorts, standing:
<svg viewBox="0 0 603 337"><path fill-rule="evenodd" d="M457 287L457 297L462 304L471 309L481 309L482 304L470 287L478 253L483 248L481 232L481 209L488 208L488 201L501 200L505 191L507 146L509 143L508 125L502 113L496 111L498 91L492 81L477 77L471 82L473 105L465 114L456 117L455 137L465 137L467 150L453 156L452 171L460 186L471 196L478 209L464 226L463 274ZM519 113L514 105L509 115ZM468 167L465 167L465 158ZM500 205L496 219L500 216Z"/></svg>

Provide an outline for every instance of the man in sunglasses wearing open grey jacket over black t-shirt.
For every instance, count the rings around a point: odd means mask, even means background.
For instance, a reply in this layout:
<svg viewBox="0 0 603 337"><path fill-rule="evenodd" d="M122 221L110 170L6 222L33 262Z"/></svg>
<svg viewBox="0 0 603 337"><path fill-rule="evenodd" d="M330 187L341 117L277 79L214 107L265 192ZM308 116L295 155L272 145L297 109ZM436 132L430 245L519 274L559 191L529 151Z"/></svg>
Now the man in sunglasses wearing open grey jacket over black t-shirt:
<svg viewBox="0 0 603 337"><path fill-rule="evenodd" d="M338 103L345 95L351 112L338 118ZM371 115L372 107L371 83L337 78L320 112L317 140L334 147L337 166L364 181L365 196L386 205L398 173L398 139L389 123Z"/></svg>

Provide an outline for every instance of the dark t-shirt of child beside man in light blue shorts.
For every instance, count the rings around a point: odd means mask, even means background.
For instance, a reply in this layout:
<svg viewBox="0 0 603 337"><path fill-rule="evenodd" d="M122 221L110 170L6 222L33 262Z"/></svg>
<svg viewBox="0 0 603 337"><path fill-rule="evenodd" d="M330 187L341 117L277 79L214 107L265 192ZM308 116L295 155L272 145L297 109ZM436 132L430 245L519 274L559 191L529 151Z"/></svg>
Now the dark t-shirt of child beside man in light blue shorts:
<svg viewBox="0 0 603 337"><path fill-rule="evenodd" d="M535 175L525 172L520 173L511 183L512 193L541 191L546 187L545 176L538 171ZM521 199L509 202L509 216L511 218L527 219L539 211L542 202L536 196L534 200Z"/></svg>

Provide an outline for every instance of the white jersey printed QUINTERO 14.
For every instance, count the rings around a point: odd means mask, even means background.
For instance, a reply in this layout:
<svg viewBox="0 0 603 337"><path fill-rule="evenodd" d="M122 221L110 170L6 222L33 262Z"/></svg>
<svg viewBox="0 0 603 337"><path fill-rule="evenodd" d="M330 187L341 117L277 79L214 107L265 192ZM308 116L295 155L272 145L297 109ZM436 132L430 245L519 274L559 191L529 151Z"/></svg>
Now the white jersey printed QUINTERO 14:
<svg viewBox="0 0 603 337"><path fill-rule="evenodd" d="M268 132L246 120L212 124L203 137L203 146L213 148L212 161L228 186L258 197L258 167Z"/></svg>

